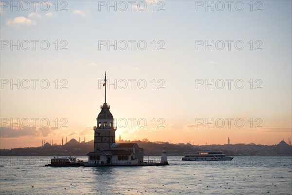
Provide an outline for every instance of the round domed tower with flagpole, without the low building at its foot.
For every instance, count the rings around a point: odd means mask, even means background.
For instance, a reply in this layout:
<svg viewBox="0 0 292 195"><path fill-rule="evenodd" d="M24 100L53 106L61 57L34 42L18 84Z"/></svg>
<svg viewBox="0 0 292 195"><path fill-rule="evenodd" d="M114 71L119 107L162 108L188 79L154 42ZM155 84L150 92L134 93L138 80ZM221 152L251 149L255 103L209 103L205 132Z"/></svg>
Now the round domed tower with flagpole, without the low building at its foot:
<svg viewBox="0 0 292 195"><path fill-rule="evenodd" d="M115 131L113 127L113 117L110 113L110 106L107 104L107 76L105 74L105 102L100 106L101 111L96 118L97 125L94 130L94 152L109 150L110 146L115 143Z"/></svg>

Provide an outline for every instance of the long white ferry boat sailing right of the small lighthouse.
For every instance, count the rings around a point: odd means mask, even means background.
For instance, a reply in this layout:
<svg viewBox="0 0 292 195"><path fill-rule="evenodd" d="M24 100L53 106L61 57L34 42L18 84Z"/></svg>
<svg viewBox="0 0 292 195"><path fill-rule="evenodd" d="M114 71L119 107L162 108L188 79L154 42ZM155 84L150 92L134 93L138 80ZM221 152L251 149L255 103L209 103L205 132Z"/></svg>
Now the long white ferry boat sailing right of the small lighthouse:
<svg viewBox="0 0 292 195"><path fill-rule="evenodd" d="M185 153L182 160L189 160L189 161L219 161L219 160L232 160L233 157L224 155L221 151L199 151L199 152L192 152L192 153Z"/></svg>

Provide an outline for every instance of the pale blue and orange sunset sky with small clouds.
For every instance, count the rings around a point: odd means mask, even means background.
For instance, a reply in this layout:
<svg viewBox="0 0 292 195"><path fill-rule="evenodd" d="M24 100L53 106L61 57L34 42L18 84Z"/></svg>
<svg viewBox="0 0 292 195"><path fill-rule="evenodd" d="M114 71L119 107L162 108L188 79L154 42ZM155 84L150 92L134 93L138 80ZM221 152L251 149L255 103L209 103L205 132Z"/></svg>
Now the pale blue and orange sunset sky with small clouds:
<svg viewBox="0 0 292 195"><path fill-rule="evenodd" d="M0 149L292 140L292 1L1 1Z"/></svg>

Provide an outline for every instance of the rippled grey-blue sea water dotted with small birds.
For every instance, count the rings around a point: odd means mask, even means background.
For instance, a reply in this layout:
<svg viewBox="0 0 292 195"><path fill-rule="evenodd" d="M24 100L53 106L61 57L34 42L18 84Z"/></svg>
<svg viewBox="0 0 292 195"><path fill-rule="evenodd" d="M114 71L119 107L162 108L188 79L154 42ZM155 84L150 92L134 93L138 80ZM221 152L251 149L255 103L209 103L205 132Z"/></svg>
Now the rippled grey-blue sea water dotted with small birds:
<svg viewBox="0 0 292 195"><path fill-rule="evenodd" d="M1 156L0 194L292 195L292 156L235 156L213 162L168 156L169 166L44 166L51 157Z"/></svg>

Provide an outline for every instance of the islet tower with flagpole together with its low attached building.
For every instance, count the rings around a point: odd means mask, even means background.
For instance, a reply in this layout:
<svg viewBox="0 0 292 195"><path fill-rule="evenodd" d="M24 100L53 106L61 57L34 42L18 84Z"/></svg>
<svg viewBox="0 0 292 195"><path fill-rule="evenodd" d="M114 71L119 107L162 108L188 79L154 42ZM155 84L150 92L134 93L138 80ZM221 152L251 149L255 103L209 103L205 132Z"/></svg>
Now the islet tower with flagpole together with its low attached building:
<svg viewBox="0 0 292 195"><path fill-rule="evenodd" d="M115 143L114 118L107 104L107 77L105 75L105 102L96 118L94 130L94 151L88 153L89 165L134 165L143 163L143 148L137 143Z"/></svg>

